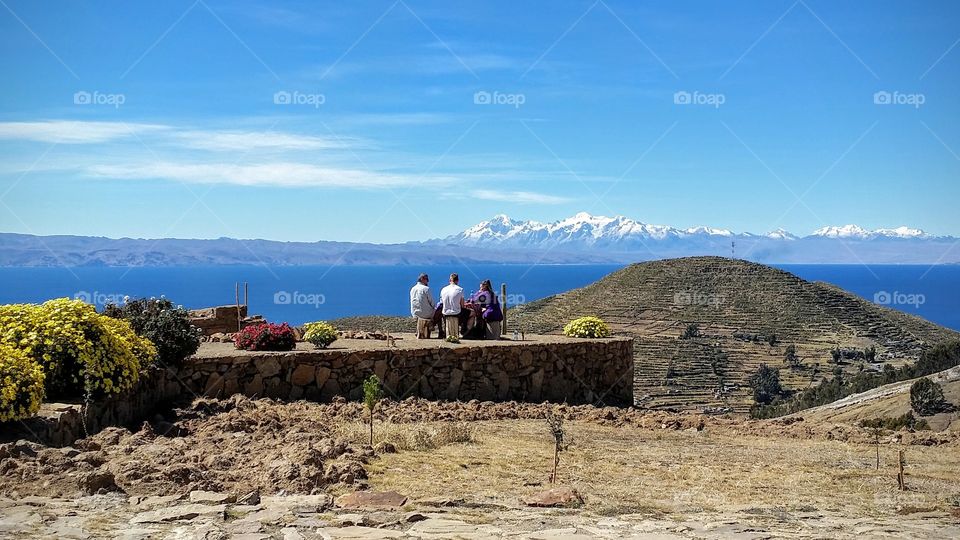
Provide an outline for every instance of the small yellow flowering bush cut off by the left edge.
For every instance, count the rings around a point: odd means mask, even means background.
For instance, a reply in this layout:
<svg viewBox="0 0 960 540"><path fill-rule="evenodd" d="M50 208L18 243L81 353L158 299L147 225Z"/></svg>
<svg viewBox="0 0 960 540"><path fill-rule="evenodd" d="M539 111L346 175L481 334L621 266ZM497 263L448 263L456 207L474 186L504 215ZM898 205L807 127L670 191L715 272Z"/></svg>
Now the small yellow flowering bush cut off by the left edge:
<svg viewBox="0 0 960 540"><path fill-rule="evenodd" d="M0 422L32 416L43 400L43 369L16 347L0 344Z"/></svg>

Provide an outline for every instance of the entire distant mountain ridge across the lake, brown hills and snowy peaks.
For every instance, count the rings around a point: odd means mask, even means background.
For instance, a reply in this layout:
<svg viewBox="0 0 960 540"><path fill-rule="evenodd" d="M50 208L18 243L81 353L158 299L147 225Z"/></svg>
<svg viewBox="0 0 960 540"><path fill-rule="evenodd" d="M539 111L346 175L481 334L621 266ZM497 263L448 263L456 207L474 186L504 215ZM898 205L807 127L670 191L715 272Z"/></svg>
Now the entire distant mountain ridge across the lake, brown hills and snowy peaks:
<svg viewBox="0 0 960 540"><path fill-rule="evenodd" d="M500 214L422 242L280 242L0 233L0 266L597 264L714 255L768 264L957 264L960 239L920 229L829 226L807 236L686 229L581 212L552 223Z"/></svg>

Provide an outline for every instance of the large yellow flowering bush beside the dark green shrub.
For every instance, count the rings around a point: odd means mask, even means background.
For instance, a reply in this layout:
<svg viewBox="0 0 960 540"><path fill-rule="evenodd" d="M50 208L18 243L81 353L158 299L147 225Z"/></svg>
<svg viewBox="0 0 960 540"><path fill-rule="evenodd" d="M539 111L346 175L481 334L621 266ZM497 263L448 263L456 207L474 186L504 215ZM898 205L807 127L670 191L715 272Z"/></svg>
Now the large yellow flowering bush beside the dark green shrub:
<svg viewBox="0 0 960 540"><path fill-rule="evenodd" d="M47 397L112 394L140 376L153 344L92 305L60 298L0 306L0 343L18 347L43 368Z"/></svg>

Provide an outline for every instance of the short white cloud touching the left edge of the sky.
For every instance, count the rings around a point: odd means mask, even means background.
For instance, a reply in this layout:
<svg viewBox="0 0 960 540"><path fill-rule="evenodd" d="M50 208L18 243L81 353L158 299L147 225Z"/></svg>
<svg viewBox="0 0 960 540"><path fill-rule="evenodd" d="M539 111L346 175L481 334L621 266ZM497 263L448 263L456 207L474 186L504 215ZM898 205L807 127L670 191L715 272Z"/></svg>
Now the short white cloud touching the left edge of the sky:
<svg viewBox="0 0 960 540"><path fill-rule="evenodd" d="M93 144L157 133L170 129L159 124L125 122L83 122L43 120L39 122L0 122L0 139L26 140L58 144Z"/></svg>

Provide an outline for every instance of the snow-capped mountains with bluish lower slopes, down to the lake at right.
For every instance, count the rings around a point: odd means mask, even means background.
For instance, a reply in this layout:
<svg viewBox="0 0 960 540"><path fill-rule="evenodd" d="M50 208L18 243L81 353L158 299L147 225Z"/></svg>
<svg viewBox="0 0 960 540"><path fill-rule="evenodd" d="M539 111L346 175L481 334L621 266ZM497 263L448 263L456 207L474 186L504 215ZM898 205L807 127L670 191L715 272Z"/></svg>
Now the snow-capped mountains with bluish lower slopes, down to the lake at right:
<svg viewBox="0 0 960 540"><path fill-rule="evenodd" d="M960 262L960 239L900 226L827 226L806 236L784 229L756 234L709 226L677 228L586 212L552 223L500 214L432 243L487 249L602 253L619 261L721 255L765 263L938 264Z"/></svg>

